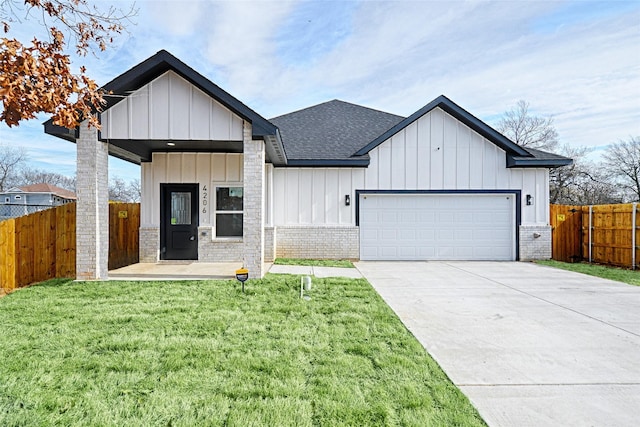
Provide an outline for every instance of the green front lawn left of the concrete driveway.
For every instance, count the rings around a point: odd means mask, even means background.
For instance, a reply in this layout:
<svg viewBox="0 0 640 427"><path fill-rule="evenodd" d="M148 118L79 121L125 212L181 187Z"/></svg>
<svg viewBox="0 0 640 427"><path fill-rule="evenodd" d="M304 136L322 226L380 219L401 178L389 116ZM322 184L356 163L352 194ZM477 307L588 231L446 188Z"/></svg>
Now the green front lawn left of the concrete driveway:
<svg viewBox="0 0 640 427"><path fill-rule="evenodd" d="M485 425L368 282L299 280L13 292L0 425Z"/></svg>

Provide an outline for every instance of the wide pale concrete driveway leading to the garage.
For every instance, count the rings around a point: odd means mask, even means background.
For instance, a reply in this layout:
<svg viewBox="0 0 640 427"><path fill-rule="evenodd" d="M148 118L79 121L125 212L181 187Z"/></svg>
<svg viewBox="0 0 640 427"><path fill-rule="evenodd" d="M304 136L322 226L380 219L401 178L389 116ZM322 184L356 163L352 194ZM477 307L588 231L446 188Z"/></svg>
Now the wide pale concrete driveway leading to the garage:
<svg viewBox="0 0 640 427"><path fill-rule="evenodd" d="M640 424L640 287L520 262L356 265L490 426Z"/></svg>

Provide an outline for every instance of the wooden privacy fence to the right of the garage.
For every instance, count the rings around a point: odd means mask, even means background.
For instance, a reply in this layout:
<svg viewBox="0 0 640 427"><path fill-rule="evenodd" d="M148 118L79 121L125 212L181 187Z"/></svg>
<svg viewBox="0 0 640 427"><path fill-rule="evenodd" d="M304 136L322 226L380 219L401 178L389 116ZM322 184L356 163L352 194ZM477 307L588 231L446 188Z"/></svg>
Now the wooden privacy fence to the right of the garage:
<svg viewBox="0 0 640 427"><path fill-rule="evenodd" d="M635 269L640 261L640 209L620 205L551 205L552 257Z"/></svg>

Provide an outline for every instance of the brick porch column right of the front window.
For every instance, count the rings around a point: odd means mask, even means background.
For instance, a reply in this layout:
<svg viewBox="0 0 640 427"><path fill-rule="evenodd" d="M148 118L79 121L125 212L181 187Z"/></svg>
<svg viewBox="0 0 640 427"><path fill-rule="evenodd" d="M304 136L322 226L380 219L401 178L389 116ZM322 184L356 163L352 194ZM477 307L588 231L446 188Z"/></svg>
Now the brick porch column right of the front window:
<svg viewBox="0 0 640 427"><path fill-rule="evenodd" d="M264 141L254 141L251 124L244 122L243 262L249 277L264 275Z"/></svg>

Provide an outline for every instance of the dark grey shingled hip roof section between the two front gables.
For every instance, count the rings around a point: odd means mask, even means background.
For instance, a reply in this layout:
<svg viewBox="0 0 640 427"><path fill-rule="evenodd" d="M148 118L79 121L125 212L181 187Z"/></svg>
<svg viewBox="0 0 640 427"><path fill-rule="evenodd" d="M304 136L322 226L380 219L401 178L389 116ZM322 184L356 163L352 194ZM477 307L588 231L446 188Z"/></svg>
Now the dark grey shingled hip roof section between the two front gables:
<svg viewBox="0 0 640 427"><path fill-rule="evenodd" d="M270 121L280 130L289 166L367 166L366 153L353 153L402 119L334 99Z"/></svg>

